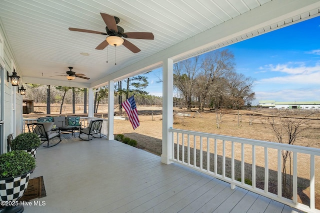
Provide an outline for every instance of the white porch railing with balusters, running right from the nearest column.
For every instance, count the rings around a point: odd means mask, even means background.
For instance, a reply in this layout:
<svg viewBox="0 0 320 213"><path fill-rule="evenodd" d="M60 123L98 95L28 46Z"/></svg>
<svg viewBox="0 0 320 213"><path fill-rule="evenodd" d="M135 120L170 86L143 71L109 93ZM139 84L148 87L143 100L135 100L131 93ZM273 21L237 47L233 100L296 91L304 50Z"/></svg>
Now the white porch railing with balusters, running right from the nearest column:
<svg viewBox="0 0 320 213"><path fill-rule="evenodd" d="M320 213L315 209L315 178L320 178L315 165L320 163L320 149L172 128L168 131L173 141L171 161L228 182L233 189L239 186L296 209ZM293 172L286 175L292 177L290 199L282 197L281 151L292 152L287 168L291 166ZM245 179L252 185L244 183ZM299 201L303 186L309 195Z"/></svg>

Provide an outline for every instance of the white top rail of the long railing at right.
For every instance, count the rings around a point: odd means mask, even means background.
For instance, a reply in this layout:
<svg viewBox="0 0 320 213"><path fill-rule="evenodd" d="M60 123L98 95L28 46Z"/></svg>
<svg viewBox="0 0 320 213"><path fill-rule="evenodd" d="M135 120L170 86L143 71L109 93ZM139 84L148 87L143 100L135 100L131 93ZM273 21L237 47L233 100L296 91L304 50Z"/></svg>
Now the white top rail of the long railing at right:
<svg viewBox="0 0 320 213"><path fill-rule="evenodd" d="M254 139L248 139L248 138L239 138L239 137L234 137L234 136L218 135L218 134L212 134L212 133L181 130L181 129L174 129L174 128L169 128L168 131L320 156L320 149L311 148L311 147L303 147L303 146L289 145L289 144L280 144L280 143L276 143L276 142L260 141L260 140L254 140Z"/></svg>

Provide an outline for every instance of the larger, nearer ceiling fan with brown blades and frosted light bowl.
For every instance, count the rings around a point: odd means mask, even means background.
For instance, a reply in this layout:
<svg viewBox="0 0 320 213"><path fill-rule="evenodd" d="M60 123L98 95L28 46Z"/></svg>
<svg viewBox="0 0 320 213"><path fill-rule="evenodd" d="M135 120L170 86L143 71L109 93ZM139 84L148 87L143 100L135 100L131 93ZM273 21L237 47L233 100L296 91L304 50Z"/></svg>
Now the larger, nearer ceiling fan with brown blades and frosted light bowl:
<svg viewBox="0 0 320 213"><path fill-rule="evenodd" d="M72 28L72 27L69 27L69 30L108 35L104 41L102 41L97 47L95 47L95 49L104 49L109 44L113 46L119 46L123 44L123 46L128 48L131 52L137 53L140 51L140 49L124 38L152 39L152 40L154 39L152 32L124 32L124 29L122 27L116 25L120 21L118 17L101 13L101 12L100 14L102 16L103 21L106 24L106 27L105 27L106 33L98 32L94 30L88 30L88 29Z"/></svg>

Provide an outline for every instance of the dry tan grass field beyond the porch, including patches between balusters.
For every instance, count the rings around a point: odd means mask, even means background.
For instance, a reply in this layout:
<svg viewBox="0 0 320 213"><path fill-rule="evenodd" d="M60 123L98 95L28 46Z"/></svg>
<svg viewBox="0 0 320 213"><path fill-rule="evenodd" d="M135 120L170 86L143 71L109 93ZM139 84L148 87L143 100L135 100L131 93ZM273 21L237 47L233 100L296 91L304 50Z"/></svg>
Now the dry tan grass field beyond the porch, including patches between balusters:
<svg viewBox="0 0 320 213"><path fill-rule="evenodd" d="M276 137L272 130L270 129L270 122L279 125L281 122L276 113L276 110L217 110L196 113L196 109L192 112L185 112L183 109L174 109L174 124L173 128L192 130L199 132L214 133L220 135L229 135L241 138L250 138L262 141L275 142ZM137 141L138 148L145 149L154 154L161 154L161 137L162 137L162 115L161 108L144 108L138 107L140 126L133 130L129 121L115 120L114 123L114 134L123 134L125 137L134 139ZM181 114L182 113L182 114ZM254 116L252 117L252 114ZM297 112L292 114L292 117L301 117L304 114L295 115ZM125 115L125 113L122 113ZM151 114L153 116L151 116ZM183 114L185 116L183 116ZM187 116L189 114L189 116ZM272 117L272 114L274 117ZM219 128L216 125L216 116L221 117L221 122L219 123ZM310 119L303 124L303 128L306 129L300 134L301 138L298 138L294 145L320 148L320 114L314 113ZM251 119L251 125L250 125ZM198 148L198 147L196 147ZM227 146L228 148L228 146ZM219 149L219 145L218 145ZM229 148L230 149L230 148ZM248 148L250 149L250 148ZM240 160L240 148L235 147L235 150L239 150L236 154L236 160ZM273 152L274 151L274 152ZM275 150L269 151L269 159L277 158ZM228 153L228 151L226 151ZM198 155L199 156L199 155ZM263 178L264 178L264 151L262 148L256 148L256 187L263 189ZM191 156L192 158L192 156ZM251 156L246 156L246 178L250 178L250 162ZM309 197L309 172L308 169L304 171L304 168L309 168L309 157L304 155L298 155L298 194L299 201L307 204ZM219 159L218 159L219 163ZM227 162L226 162L227 163ZM316 158L316 208L320 209L320 159ZM205 164L205 162L204 162ZM240 167L240 164L238 164ZM276 161L272 162L269 160L269 192L274 192L276 194L276 173L277 170ZM239 171L239 169L236 169ZM228 174L228 171L226 171Z"/></svg>

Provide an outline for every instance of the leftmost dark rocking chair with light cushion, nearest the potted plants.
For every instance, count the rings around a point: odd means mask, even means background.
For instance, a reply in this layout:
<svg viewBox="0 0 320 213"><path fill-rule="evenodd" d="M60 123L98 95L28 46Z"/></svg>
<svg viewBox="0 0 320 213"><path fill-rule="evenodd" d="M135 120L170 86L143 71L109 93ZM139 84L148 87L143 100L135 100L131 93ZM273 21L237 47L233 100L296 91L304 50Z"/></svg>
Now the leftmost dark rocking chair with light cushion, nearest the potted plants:
<svg viewBox="0 0 320 213"><path fill-rule="evenodd" d="M49 122L47 123L31 123L27 124L29 132L34 132L39 136L43 144L45 141L47 141L47 145L43 147L53 147L61 142L60 133L56 131L52 131L52 124ZM59 141L52 140L53 138L59 138Z"/></svg>

